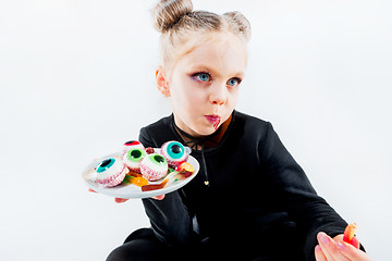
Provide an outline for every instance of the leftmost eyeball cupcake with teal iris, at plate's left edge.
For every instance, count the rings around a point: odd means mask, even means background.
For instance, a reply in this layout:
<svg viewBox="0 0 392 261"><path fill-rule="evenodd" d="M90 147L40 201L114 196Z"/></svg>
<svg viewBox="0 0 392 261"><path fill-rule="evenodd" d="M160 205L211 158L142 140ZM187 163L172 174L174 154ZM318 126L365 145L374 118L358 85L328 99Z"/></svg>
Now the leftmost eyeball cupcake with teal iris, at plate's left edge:
<svg viewBox="0 0 392 261"><path fill-rule="evenodd" d="M95 172L97 184L103 187L114 187L122 183L128 170L121 158L114 157L102 160Z"/></svg>

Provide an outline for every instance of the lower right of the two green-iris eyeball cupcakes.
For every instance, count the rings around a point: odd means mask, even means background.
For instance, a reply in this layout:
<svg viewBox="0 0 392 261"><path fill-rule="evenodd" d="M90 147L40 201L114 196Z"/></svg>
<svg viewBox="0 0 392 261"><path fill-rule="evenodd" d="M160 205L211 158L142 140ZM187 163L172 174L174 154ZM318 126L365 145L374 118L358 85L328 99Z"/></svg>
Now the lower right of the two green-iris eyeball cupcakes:
<svg viewBox="0 0 392 261"><path fill-rule="evenodd" d="M148 154L140 162L140 173L150 182L158 181L168 174L168 162L161 154Z"/></svg>

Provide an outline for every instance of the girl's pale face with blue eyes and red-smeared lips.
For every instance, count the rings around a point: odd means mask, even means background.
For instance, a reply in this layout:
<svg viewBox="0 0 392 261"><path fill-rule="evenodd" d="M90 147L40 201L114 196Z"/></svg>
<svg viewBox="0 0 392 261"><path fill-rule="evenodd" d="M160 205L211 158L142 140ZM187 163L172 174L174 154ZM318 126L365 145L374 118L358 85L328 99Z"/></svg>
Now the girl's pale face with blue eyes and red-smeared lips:
<svg viewBox="0 0 392 261"><path fill-rule="evenodd" d="M212 134L234 110L245 67L246 48L238 37L200 37L166 72L175 124L194 137Z"/></svg>

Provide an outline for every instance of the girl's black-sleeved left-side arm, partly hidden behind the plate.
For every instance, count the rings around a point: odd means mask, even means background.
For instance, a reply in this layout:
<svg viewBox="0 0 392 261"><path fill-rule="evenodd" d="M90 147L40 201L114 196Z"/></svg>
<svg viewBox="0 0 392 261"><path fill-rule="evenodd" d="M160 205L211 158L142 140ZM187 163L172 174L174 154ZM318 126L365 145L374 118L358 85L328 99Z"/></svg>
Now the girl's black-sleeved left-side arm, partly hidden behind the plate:
<svg viewBox="0 0 392 261"><path fill-rule="evenodd" d="M139 141L146 148L161 146L146 128L140 129ZM179 190L168 194L162 200L143 199L143 204L160 240L169 246L184 245L189 240L192 220Z"/></svg>

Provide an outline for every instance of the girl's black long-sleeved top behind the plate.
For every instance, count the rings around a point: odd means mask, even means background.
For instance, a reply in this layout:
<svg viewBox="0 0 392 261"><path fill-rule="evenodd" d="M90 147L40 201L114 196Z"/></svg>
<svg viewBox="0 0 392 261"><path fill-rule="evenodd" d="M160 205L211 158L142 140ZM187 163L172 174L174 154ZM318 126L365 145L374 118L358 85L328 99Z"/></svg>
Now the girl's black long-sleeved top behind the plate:
<svg viewBox="0 0 392 261"><path fill-rule="evenodd" d="M142 128L139 141L155 148L184 142L173 121L170 115ZM316 194L269 122L234 111L220 144L204 154L209 186L200 165L191 183L163 200L143 199L151 229L168 249L204 246L210 257L229 251L241 260L315 260L319 231L332 237L344 232L346 222ZM200 151L192 156L201 162Z"/></svg>

